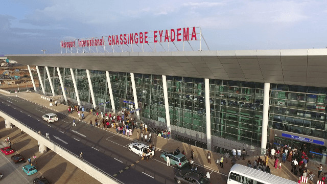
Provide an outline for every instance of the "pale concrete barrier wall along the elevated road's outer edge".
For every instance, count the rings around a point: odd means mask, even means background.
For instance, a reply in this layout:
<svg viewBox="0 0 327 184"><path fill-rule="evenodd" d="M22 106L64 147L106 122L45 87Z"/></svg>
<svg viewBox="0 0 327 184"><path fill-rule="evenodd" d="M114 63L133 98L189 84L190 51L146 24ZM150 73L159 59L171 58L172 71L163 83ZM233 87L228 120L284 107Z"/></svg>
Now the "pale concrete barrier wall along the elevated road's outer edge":
<svg viewBox="0 0 327 184"><path fill-rule="evenodd" d="M39 141L40 144L48 147L55 153L59 154L63 158L65 158L68 162L71 162L74 164L76 167L80 168L90 176L94 177L98 181L102 183L122 183L122 182L117 182L114 179L110 178L107 176L105 173L99 171L97 168L90 166L89 163L85 162L84 160L79 158L79 155L75 155L74 153L69 152L68 150L62 148L59 145L54 144L53 142L49 141L44 137L44 135L38 134L37 131L34 131L33 129L29 128L25 124L22 124L18 120L14 119L11 116L8 116L6 113L3 111L0 111L0 116L6 119L6 121L9 121L13 125L15 125L17 128L21 129L22 131L26 132L30 136L32 136L35 140ZM45 134L45 132L42 132Z"/></svg>

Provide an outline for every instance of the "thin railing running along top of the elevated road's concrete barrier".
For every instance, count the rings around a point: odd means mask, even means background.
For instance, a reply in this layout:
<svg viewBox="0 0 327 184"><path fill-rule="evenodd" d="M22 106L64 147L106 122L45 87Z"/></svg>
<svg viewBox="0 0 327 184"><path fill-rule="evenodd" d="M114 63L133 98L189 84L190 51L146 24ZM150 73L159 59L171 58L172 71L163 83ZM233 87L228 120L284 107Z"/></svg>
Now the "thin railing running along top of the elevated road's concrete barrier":
<svg viewBox="0 0 327 184"><path fill-rule="evenodd" d="M8 117L14 119L16 122L18 122L18 123L24 125L26 128L30 129L31 131L33 131L33 132L35 132L35 133L41 135L41 136L44 137L45 139L47 139L47 138L45 137L45 135L40 134L38 131L36 131L36 130L32 129L31 127L27 126L26 124L20 122L19 120L17 120L17 119L15 119L14 117L10 116L10 115L7 114L6 112L4 112L4 111L2 111L2 112L3 112L4 114L6 114ZM86 160L84 160L83 158L81 158L79 155L74 154L73 152L71 152L71 151L65 149L64 147L62 147L62 146L56 144L55 142L51 141L50 139L47 139L47 140L50 141L52 144L58 146L59 148L65 150L66 152L68 152L68 153L71 154L72 156L75 156L75 157L77 157L77 158L80 158L84 163L88 164L90 167L92 167L92 168L98 170L99 172L105 174L107 177L111 178L112 180L114 180L114 181L116 181L116 182L118 182L118 183L123 183L122 181L120 181L120 180L114 178L113 176L111 176L110 174L108 174L108 173L106 173L105 171L101 170L100 168L98 168L98 167L92 165L91 163L87 162Z"/></svg>

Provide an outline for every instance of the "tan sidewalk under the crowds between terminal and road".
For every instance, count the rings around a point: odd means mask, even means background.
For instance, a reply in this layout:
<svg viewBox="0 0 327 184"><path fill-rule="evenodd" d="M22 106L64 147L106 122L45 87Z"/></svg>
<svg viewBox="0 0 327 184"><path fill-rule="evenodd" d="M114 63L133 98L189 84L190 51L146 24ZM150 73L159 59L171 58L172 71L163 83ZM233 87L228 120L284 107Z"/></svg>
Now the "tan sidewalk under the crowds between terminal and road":
<svg viewBox="0 0 327 184"><path fill-rule="evenodd" d="M36 103L36 104L39 104L39 105L42 105L42 106L45 106L45 107L48 107L48 108L53 109L55 111L66 114L66 116L70 116L72 118L78 119L77 112L74 112L72 114L68 114L67 106L63 105L63 104L58 104L58 106L49 106L49 101L45 100L45 99L42 99L41 95L39 95L39 94L24 92L24 93L19 93L17 95L18 95L18 97L20 97L22 99L31 101L33 103ZM85 120L83 120L83 122L85 122L87 124L90 122L90 120L92 120L92 122L95 122L96 116L92 116L88 112L84 112L84 114L85 114ZM100 122L102 122L101 118L100 118ZM101 125L102 125L102 123L100 123L100 126L97 127L97 128L103 129L103 126L101 126ZM104 129L104 130L111 131L111 132L116 132L116 130L113 129L113 128ZM136 138L136 131L137 130L140 132L139 129L135 129L133 131L133 134L130 135L129 137L127 135L122 135L122 134L121 134L121 136L125 136L126 139L136 140L137 141L137 138ZM205 149L193 146L193 145L189 145L189 144L186 144L186 143L182 143L182 142L179 142L179 141L176 141L176 140L172 140L172 139L167 140L167 139L164 139L162 137L157 137L154 133L152 133L152 143L151 144L154 144L155 147L158 150L162 150L162 151L174 151L177 147L179 147L180 151L184 150L186 152L186 157L187 158L191 157L191 150L193 149L194 152L195 152L195 155L194 155L195 164L202 165L202 166L204 166L206 168L210 168L210 169L215 170L215 171L217 171L217 172L219 172L219 173L221 173L221 174L223 174L225 176L228 175L229 170L231 168L230 159L228 160L227 163L226 163L227 160L226 159L224 160L224 169L221 169L219 166L216 166L215 160L220 158L220 156L223 156L221 154L211 152L212 159L211 159L211 164L209 164L207 162L207 157L206 157L206 153L208 152L208 150L205 150ZM240 148L240 149L243 149L243 148ZM237 160L237 164L246 165L248 163L248 160L250 160L251 164L253 164L253 162L254 162L254 160L256 158L258 158L258 157L257 156L247 156L245 160L242 160L242 159ZM263 156L261 156L261 158L263 158ZM290 180L293 180L293 181L297 181L298 175L295 176L294 174L291 173L291 164L289 162L282 163L282 169L274 169L273 164L274 164L273 160L269 159L269 164L268 165L271 168L271 173L272 174L283 177L283 178L287 178L287 179L290 179ZM308 173L310 171L312 171L313 174L315 175L314 183L317 183L317 179L318 179L318 177L317 177L318 176L318 170L316 168L317 165L319 165L319 164L314 162L314 161L309 160ZM324 168L323 172L327 172L327 167L325 166L323 168Z"/></svg>

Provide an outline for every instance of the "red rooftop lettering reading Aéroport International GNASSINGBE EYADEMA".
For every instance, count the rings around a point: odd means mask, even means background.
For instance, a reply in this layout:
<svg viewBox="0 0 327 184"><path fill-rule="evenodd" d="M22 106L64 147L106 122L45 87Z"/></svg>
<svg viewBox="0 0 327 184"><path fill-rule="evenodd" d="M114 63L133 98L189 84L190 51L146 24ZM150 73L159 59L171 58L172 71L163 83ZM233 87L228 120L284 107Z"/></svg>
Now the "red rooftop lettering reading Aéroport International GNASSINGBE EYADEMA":
<svg viewBox="0 0 327 184"><path fill-rule="evenodd" d="M157 43L157 42L172 42L172 41L192 41L197 40L195 27L193 28L178 28L170 30L159 30L150 32L152 34L149 40L149 32L137 32L129 34L117 34L108 36L108 45L118 44L137 44L137 43ZM75 42L78 42L78 46ZM61 48L72 47L92 47L105 45L104 38L87 38L74 41L61 41Z"/></svg>

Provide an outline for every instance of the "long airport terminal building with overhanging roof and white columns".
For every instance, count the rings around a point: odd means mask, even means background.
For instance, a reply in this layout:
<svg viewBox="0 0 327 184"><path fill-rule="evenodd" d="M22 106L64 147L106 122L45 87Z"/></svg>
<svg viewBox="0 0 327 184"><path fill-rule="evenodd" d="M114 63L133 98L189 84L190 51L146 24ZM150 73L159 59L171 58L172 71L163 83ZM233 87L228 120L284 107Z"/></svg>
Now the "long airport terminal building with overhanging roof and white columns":
<svg viewBox="0 0 327 184"><path fill-rule="evenodd" d="M36 66L41 93L101 111L133 108L188 144L248 154L288 145L326 163L327 49L6 57Z"/></svg>

